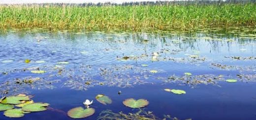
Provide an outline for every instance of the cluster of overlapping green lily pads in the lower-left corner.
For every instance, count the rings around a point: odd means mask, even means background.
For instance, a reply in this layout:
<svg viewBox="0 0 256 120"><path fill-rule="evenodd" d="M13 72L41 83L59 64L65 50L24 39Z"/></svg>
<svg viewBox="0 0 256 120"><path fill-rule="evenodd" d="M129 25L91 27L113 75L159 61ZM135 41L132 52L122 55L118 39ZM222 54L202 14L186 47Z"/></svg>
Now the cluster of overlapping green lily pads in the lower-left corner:
<svg viewBox="0 0 256 120"><path fill-rule="evenodd" d="M9 118L20 118L31 112L47 110L48 103L34 102L32 96L19 94L16 96L4 96L0 99L0 111Z"/></svg>

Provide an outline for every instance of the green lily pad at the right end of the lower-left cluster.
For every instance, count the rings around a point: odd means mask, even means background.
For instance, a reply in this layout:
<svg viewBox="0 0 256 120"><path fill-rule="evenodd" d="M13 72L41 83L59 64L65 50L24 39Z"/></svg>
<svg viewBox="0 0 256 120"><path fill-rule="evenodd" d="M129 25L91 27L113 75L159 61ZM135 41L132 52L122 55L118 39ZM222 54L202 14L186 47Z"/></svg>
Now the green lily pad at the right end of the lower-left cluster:
<svg viewBox="0 0 256 120"><path fill-rule="evenodd" d="M47 110L46 107L49 106L48 103L32 103L27 104L22 107L22 110L28 111L28 112L38 112L38 111L45 111Z"/></svg>

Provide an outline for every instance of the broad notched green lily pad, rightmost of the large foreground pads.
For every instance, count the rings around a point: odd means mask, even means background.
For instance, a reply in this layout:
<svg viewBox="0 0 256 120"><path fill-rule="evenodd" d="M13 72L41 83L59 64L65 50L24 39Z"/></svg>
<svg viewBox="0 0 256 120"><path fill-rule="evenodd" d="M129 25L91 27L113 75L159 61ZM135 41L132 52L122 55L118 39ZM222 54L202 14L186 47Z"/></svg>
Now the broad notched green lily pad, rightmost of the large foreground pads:
<svg viewBox="0 0 256 120"><path fill-rule="evenodd" d="M135 100L133 98L126 99L123 101L123 104L130 108L142 108L149 104L148 100L146 99L138 99Z"/></svg>

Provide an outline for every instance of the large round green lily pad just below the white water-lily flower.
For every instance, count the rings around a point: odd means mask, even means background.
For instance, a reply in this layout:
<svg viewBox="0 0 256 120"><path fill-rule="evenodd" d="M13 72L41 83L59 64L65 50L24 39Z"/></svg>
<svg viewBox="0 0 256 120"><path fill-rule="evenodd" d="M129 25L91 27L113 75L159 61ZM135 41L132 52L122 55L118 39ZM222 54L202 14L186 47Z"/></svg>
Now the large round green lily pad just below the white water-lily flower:
<svg viewBox="0 0 256 120"><path fill-rule="evenodd" d="M81 118L92 116L94 115L94 113L95 113L95 109L93 108L84 109L83 107L76 107L76 108L70 109L67 112L67 115L73 119L81 119Z"/></svg>

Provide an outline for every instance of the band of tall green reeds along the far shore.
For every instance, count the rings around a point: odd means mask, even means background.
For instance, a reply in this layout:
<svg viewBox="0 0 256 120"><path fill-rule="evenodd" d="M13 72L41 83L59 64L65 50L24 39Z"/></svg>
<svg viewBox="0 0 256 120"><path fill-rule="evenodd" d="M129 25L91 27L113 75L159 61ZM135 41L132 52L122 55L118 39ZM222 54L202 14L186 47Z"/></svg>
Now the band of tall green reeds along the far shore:
<svg viewBox="0 0 256 120"><path fill-rule="evenodd" d="M256 1L0 5L0 29L141 30L256 27Z"/></svg>

